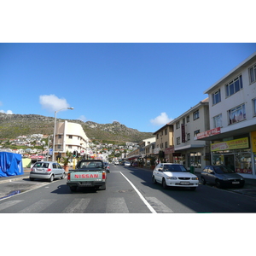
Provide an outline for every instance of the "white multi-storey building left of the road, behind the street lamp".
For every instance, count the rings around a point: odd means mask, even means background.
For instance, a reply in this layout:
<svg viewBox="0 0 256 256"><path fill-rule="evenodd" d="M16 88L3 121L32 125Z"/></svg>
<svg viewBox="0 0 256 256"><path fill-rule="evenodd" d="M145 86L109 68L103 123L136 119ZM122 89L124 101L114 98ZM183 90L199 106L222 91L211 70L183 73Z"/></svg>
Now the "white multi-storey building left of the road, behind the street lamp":
<svg viewBox="0 0 256 256"><path fill-rule="evenodd" d="M88 154L89 138L86 136L82 125L67 121L56 123L55 159L59 153L66 156L66 152L77 150L79 154Z"/></svg>

